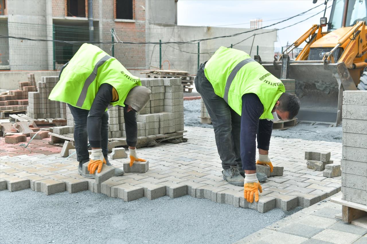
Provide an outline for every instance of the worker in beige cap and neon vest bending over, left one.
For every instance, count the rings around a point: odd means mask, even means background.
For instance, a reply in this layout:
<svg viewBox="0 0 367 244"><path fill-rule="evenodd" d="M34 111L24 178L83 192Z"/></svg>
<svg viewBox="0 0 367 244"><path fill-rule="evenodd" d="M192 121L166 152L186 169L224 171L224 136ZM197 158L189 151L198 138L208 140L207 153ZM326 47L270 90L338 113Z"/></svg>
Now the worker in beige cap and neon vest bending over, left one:
<svg viewBox="0 0 367 244"><path fill-rule="evenodd" d="M94 178L108 161L108 112L112 106L124 107L126 142L129 146L130 166L144 162L137 155L137 119L149 101L150 90L141 86L140 79L131 75L117 59L92 44L83 44L73 58L63 66L59 82L49 99L68 104L74 117L74 140L78 172ZM88 153L88 139L92 154ZM83 174L82 164L89 162L89 174ZM115 169L115 175L123 175Z"/></svg>

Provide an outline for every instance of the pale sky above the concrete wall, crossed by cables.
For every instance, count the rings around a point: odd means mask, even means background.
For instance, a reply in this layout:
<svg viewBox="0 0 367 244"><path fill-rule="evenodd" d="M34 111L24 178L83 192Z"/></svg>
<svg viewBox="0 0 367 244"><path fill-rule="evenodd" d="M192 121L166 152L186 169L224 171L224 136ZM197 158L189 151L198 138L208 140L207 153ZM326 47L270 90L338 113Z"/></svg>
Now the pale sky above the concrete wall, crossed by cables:
<svg viewBox="0 0 367 244"><path fill-rule="evenodd" d="M178 0L177 24L190 26L229 25L224 27L250 28L250 19L262 19L263 26L267 26L281 21L280 18L300 14L321 3L324 1L318 0L316 4L313 4L312 0ZM329 0L328 6L331 6L331 3L332 1ZM279 23L269 27L269 29L279 29L297 23L324 10L324 8L323 4L304 15ZM330 10L331 8L328 8L326 11L328 19ZM320 23L322 16L323 12L295 26L279 30L275 47L285 46L287 41L291 44L313 24Z"/></svg>

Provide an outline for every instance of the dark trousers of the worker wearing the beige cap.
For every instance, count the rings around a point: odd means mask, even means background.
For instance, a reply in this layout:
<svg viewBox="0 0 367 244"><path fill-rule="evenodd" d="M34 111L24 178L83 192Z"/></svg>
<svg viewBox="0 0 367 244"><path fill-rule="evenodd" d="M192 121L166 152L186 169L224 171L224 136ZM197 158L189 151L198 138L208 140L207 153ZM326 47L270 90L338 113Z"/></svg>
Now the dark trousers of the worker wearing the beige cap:
<svg viewBox="0 0 367 244"><path fill-rule="evenodd" d="M73 107L68 104L70 111L74 117L74 141L78 162L86 163L89 161L88 152L88 133L87 118L89 110ZM103 156L108 162L108 112L104 112L102 116L101 126L101 148Z"/></svg>

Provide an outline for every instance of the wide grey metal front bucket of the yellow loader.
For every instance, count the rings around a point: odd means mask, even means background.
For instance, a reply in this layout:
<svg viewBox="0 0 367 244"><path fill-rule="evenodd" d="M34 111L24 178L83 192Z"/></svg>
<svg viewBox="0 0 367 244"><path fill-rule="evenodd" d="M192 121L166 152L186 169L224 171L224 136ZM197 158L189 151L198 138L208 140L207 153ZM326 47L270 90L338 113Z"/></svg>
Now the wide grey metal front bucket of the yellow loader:
<svg viewBox="0 0 367 244"><path fill-rule="evenodd" d="M262 65L280 78L281 64ZM301 101L297 118L340 125L343 90L356 90L345 64L291 62L288 71L287 78L295 80L295 94Z"/></svg>

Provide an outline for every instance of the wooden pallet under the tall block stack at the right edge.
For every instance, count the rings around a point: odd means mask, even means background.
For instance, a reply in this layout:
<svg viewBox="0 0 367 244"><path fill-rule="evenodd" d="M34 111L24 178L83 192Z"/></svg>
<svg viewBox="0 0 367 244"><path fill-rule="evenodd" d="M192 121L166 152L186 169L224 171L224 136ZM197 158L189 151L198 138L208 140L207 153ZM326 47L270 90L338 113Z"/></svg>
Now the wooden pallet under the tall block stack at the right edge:
<svg viewBox="0 0 367 244"><path fill-rule="evenodd" d="M342 196L332 197L331 202L342 205L342 214L337 214L335 217L342 219L346 223L350 223L359 218L367 216L367 206L360 203L353 203L342 200ZM367 227L365 227L367 228Z"/></svg>

